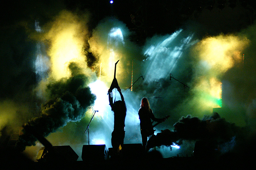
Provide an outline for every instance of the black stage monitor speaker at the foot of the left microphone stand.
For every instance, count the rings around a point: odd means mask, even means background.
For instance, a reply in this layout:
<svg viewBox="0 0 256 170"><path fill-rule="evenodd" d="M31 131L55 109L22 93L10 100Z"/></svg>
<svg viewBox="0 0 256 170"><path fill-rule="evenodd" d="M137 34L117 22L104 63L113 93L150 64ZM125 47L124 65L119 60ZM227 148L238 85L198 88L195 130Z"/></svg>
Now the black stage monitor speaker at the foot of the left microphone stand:
<svg viewBox="0 0 256 170"><path fill-rule="evenodd" d="M83 145L83 161L103 161L108 158L108 149L106 145Z"/></svg>

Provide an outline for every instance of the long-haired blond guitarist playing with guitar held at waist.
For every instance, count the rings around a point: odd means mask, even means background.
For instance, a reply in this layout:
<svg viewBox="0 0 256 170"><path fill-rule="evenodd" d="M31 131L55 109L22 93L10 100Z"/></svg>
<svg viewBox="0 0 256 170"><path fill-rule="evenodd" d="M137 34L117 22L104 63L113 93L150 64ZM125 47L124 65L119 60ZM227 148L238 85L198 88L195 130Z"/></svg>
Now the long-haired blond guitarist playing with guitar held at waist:
<svg viewBox="0 0 256 170"><path fill-rule="evenodd" d="M140 133L142 138L142 146L146 150L146 145L148 141L148 137L154 135L154 127L165 121L169 116L164 117L162 119L156 118L153 114L153 111L150 108L150 104L147 98L142 98L140 102L140 109L139 109L139 119L140 119ZM158 122L154 126L152 125L152 121Z"/></svg>

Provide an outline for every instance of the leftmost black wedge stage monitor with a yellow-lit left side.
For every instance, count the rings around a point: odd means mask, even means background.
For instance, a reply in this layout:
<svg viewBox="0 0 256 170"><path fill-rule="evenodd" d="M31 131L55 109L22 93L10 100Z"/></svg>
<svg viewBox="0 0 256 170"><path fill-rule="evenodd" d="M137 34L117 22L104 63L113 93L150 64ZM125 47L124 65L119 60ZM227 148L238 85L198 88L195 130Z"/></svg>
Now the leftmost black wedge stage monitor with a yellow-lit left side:
<svg viewBox="0 0 256 170"><path fill-rule="evenodd" d="M36 160L44 162L65 161L71 162L78 159L76 152L69 146L52 146L51 148L42 147L37 154Z"/></svg>

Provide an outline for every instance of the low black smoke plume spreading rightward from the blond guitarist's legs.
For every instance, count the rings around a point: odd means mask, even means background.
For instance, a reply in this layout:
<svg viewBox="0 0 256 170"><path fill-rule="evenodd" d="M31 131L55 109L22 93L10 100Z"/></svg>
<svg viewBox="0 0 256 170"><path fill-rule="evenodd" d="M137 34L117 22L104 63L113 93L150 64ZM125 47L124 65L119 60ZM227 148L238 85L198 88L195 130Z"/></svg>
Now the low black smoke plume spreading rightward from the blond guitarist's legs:
<svg viewBox="0 0 256 170"><path fill-rule="evenodd" d="M162 145L171 146L173 143L181 145L183 140L226 143L234 137L241 137L244 131L243 128L237 127L234 123L220 118L216 112L212 116L205 116L202 120L190 115L182 116L173 127L173 131L165 129L157 135L152 135L148 140L147 148Z"/></svg>

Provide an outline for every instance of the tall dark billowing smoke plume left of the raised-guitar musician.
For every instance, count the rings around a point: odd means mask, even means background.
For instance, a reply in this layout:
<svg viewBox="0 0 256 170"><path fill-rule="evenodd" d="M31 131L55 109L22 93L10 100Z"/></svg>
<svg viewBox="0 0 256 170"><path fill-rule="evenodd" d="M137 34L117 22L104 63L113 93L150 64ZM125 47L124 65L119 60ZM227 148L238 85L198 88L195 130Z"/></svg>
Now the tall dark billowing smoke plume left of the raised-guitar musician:
<svg viewBox="0 0 256 170"><path fill-rule="evenodd" d="M80 121L94 104L96 96L87 87L87 77L80 73L75 63L71 63L69 69L72 72L70 78L48 84L47 90L52 98L42 105L40 116L23 126L23 134L16 143L18 150L24 151L26 146L36 145L39 138L48 136L68 122Z"/></svg>

